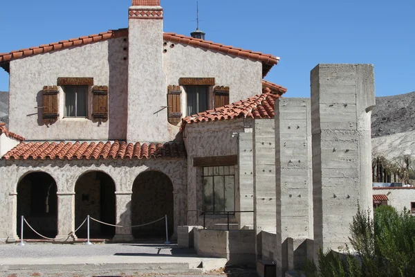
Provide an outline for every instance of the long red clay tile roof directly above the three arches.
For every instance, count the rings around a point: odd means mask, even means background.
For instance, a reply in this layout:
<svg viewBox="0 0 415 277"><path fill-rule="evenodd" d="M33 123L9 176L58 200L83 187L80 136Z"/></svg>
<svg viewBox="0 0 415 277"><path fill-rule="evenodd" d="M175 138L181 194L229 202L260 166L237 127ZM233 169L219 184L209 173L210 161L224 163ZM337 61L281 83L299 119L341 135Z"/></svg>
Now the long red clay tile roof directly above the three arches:
<svg viewBox="0 0 415 277"><path fill-rule="evenodd" d="M2 159L151 159L151 158L184 158L186 156L183 143L20 143L4 154Z"/></svg>

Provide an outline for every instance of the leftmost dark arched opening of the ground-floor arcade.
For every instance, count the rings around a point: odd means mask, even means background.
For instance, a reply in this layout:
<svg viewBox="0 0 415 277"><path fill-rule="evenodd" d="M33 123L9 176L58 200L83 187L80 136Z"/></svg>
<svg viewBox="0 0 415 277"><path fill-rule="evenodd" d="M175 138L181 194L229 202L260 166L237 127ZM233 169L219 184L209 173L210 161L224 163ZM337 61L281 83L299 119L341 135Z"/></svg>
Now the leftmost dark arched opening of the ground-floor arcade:
<svg viewBox="0 0 415 277"><path fill-rule="evenodd" d="M17 234L21 231L21 215L38 233L55 238L57 235L57 186L45 172L32 172L17 184ZM26 224L24 238L42 239Z"/></svg>

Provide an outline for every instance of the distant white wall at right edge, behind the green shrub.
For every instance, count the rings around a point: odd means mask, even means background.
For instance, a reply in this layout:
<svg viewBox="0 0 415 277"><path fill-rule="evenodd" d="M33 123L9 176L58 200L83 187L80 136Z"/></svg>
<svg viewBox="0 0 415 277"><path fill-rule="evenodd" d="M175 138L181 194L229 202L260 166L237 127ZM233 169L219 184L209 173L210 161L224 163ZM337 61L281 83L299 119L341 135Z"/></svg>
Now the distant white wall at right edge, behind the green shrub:
<svg viewBox="0 0 415 277"><path fill-rule="evenodd" d="M403 208L411 210L411 202L415 202L415 188L373 188L374 195L386 195L387 204L398 212Z"/></svg>

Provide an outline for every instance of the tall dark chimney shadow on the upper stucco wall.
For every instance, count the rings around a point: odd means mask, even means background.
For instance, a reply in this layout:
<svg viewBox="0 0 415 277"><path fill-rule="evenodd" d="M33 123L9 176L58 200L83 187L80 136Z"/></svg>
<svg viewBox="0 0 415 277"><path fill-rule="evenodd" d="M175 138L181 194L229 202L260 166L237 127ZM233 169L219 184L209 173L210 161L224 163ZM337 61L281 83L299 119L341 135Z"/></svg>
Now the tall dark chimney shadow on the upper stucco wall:
<svg viewBox="0 0 415 277"><path fill-rule="evenodd" d="M128 39L108 40L109 128L108 139L127 139Z"/></svg>

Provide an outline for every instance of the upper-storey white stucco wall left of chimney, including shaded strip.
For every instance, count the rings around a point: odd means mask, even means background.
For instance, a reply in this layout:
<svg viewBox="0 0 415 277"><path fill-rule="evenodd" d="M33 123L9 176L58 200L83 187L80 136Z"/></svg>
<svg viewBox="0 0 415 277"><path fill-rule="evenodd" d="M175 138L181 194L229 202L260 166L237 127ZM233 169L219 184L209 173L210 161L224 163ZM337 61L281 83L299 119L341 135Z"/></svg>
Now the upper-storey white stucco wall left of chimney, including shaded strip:
<svg viewBox="0 0 415 277"><path fill-rule="evenodd" d="M28 140L125 139L127 136L128 42L123 37L68 48L10 62L9 129ZM109 86L109 119L64 118L64 93L59 91L59 120L42 120L42 89L59 77L89 77ZM90 93L91 94L91 93Z"/></svg>

